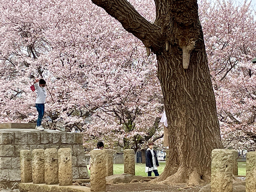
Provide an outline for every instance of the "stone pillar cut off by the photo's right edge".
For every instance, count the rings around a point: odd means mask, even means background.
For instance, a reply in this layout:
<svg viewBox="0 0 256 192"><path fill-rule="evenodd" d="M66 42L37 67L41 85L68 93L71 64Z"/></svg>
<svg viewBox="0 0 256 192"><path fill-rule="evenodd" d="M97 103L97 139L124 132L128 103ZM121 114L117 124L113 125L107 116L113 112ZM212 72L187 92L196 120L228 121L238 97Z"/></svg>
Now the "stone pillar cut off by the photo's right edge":
<svg viewBox="0 0 256 192"><path fill-rule="evenodd" d="M246 179L245 191L256 191L256 151L250 151L246 154Z"/></svg>

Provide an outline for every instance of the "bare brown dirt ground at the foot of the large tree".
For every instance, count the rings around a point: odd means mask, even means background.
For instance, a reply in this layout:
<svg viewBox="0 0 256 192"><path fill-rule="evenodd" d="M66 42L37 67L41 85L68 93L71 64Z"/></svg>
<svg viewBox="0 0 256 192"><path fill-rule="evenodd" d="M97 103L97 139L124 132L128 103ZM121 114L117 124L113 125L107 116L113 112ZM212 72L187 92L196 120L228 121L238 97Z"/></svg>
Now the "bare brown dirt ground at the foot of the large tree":
<svg viewBox="0 0 256 192"><path fill-rule="evenodd" d="M198 192L201 187L184 188L184 185L170 186L158 185L152 183L121 183L116 185L108 185L107 191L109 192Z"/></svg>

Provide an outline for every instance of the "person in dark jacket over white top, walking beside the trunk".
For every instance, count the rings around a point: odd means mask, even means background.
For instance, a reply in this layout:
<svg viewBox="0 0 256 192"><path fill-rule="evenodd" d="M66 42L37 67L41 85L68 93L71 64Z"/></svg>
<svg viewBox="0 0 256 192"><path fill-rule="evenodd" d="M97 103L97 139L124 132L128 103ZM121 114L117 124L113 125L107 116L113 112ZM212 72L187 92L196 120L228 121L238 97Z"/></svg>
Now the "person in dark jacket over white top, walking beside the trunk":
<svg viewBox="0 0 256 192"><path fill-rule="evenodd" d="M159 176L159 173L157 171L157 167L159 166L156 151L153 150L154 143L149 142L148 143L148 149L146 152L146 168L145 173L148 172L148 176L151 176L152 171L155 173L155 176Z"/></svg>

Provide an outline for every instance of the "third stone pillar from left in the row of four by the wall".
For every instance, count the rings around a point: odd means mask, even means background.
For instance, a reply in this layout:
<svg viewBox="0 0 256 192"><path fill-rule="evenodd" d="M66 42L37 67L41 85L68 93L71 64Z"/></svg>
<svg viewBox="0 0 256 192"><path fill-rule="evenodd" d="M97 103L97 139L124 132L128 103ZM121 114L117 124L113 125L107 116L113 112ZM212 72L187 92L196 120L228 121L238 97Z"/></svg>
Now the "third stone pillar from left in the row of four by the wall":
<svg viewBox="0 0 256 192"><path fill-rule="evenodd" d="M46 185L58 184L58 150L49 148L44 150L44 180Z"/></svg>

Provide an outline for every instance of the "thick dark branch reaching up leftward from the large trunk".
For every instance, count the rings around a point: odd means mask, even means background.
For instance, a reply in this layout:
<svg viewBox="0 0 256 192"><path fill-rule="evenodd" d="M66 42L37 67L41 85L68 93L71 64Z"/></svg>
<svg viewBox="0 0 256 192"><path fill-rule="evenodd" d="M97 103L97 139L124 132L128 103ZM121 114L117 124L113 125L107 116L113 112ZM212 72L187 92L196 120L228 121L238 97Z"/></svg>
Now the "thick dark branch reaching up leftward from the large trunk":
<svg viewBox="0 0 256 192"><path fill-rule="evenodd" d="M161 28L150 23L126 0L92 0L118 20L124 29L139 38L152 52L159 52ZM162 41L162 40L161 40Z"/></svg>

